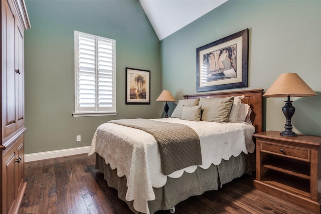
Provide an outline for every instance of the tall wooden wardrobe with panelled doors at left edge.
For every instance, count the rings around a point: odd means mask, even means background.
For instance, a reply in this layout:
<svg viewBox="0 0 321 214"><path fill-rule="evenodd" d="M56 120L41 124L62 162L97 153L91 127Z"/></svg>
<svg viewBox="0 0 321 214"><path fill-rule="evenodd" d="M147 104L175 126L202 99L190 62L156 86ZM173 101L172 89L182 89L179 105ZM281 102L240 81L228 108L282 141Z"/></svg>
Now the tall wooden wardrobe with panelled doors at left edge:
<svg viewBox="0 0 321 214"><path fill-rule="evenodd" d="M1 1L0 212L18 213L25 194L24 31L30 28L24 0Z"/></svg>

